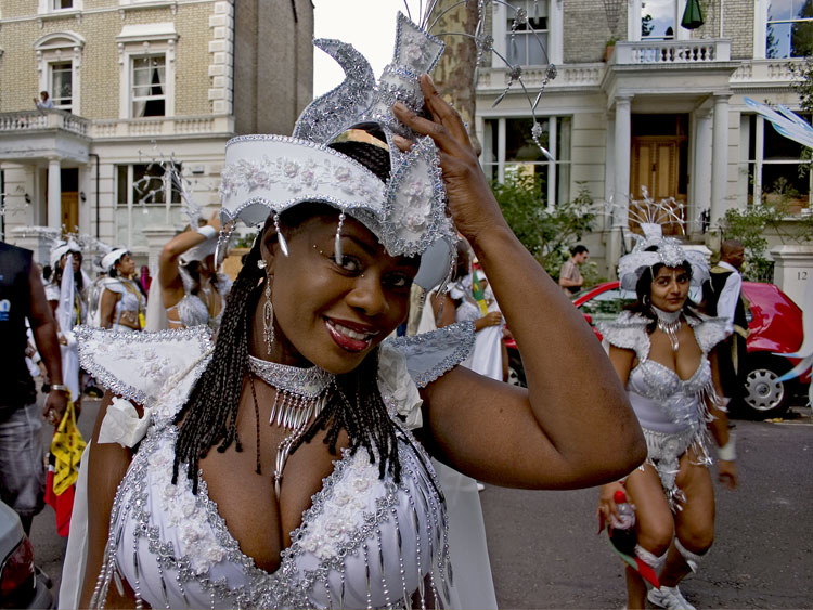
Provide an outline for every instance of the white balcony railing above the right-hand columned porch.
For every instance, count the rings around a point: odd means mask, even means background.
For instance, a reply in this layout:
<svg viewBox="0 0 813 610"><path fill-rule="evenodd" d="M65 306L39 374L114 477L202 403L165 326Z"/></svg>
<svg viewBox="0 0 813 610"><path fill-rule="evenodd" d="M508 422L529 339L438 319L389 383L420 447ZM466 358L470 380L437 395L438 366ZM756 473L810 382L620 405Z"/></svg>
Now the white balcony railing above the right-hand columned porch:
<svg viewBox="0 0 813 610"><path fill-rule="evenodd" d="M731 61L731 40L642 40L616 42L611 64L708 64Z"/></svg>

